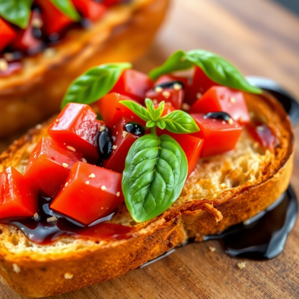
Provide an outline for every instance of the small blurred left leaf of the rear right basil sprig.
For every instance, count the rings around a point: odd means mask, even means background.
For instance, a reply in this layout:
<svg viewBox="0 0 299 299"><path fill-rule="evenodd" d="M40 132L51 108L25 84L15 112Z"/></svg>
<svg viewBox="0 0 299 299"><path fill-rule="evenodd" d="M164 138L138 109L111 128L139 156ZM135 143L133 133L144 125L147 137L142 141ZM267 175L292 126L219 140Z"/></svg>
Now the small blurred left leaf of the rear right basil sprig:
<svg viewBox="0 0 299 299"><path fill-rule="evenodd" d="M156 67L149 72L149 78L155 81L163 74L191 68L193 63L185 60L185 55L186 53L183 50L174 52L161 66Z"/></svg>

